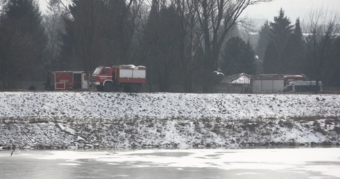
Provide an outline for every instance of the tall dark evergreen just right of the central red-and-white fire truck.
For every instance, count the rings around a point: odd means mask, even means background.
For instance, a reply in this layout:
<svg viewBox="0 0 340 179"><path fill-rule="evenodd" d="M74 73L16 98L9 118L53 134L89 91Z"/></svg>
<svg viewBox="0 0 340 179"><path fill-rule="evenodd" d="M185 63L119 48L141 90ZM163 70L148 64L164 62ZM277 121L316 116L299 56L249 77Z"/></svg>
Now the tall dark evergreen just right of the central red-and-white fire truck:
<svg viewBox="0 0 340 179"><path fill-rule="evenodd" d="M151 72L151 85L158 85L160 91L167 92L171 84L178 84L182 79L178 71L179 38L176 10L173 6L160 7L153 1L146 23L144 44L148 71ZM152 89L151 89L152 90Z"/></svg>

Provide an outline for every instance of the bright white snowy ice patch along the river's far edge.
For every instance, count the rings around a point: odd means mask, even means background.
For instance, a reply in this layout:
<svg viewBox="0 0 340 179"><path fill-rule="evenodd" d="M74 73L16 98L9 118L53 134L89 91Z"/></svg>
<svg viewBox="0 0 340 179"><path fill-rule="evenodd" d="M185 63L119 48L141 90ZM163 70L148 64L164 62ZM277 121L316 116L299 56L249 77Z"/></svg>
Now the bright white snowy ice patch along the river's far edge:
<svg viewBox="0 0 340 179"><path fill-rule="evenodd" d="M142 151L51 151L44 160L92 159L111 165L126 167L186 167L216 168L223 170L292 170L318 171L340 177L340 148L290 149L195 149L195 150L142 150ZM304 167L300 167L304 166ZM241 173L241 175L249 173Z"/></svg>

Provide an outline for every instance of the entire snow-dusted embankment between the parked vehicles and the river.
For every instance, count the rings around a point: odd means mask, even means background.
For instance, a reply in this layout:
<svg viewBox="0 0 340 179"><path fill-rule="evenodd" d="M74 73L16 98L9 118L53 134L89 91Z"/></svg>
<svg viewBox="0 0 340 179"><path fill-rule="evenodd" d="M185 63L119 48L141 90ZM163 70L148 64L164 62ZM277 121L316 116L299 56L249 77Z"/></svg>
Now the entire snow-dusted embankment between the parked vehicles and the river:
<svg viewBox="0 0 340 179"><path fill-rule="evenodd" d="M0 92L0 148L340 144L339 95Z"/></svg>

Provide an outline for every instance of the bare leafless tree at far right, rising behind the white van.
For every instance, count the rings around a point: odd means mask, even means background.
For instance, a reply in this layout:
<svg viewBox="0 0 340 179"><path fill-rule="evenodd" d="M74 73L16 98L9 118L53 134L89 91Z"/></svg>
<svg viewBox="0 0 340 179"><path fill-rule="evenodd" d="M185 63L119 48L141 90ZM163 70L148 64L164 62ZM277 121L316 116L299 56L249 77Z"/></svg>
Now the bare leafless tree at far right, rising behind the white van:
<svg viewBox="0 0 340 179"><path fill-rule="evenodd" d="M323 7L312 10L305 22L305 32L308 33L305 64L311 76L319 82L334 63L333 46L340 35L340 17Z"/></svg>

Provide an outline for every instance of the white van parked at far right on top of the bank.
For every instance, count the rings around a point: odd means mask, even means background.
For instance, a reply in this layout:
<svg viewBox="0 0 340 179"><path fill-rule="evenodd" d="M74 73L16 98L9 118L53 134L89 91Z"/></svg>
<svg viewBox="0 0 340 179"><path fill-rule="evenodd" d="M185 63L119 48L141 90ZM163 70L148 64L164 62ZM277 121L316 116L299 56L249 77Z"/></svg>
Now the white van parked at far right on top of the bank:
<svg viewBox="0 0 340 179"><path fill-rule="evenodd" d="M294 80L291 81L288 85L284 87L282 90L283 93L300 93L300 94L312 94L312 93L321 93L322 83L318 82L318 85L315 85L315 80Z"/></svg>

